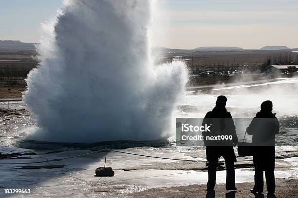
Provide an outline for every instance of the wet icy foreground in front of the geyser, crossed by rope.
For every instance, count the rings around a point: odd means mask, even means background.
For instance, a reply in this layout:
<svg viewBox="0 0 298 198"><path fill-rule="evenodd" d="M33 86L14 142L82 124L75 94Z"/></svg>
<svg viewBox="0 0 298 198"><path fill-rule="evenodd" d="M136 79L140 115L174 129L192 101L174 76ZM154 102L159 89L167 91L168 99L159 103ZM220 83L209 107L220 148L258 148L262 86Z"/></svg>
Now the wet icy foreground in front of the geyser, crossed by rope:
<svg viewBox="0 0 298 198"><path fill-rule="evenodd" d="M5 148L2 148L4 150ZM276 178L298 178L298 148L280 148L277 156L289 157L277 159ZM31 159L6 159L1 163L37 162L47 159L61 159L90 152L90 150L68 150L48 153L29 149L15 149L14 152L36 152L37 155L21 155ZM202 148L127 148L121 151L151 156L178 159L204 160ZM6 154L11 153L9 151ZM285 154L286 153L286 154ZM65 165L52 169L22 169L23 165L0 165L1 188L31 189L29 197L121 197L123 194L146 190L159 186L182 186L204 184L207 172L204 162L181 162L146 158L123 153L108 152L106 165L115 171L113 177L94 177L95 169L104 165L105 152L93 153L78 158L43 164L29 165ZM239 160L250 159L238 158ZM252 162L239 162L244 168L236 169L236 182L253 181ZM222 166L224 168L224 165ZM248 167L248 168L245 168ZM99 180L100 179L100 180ZM98 181L99 180L99 181ZM217 183L225 182L225 171L218 171ZM22 197L22 195L12 195ZM28 195L23 195L28 197Z"/></svg>

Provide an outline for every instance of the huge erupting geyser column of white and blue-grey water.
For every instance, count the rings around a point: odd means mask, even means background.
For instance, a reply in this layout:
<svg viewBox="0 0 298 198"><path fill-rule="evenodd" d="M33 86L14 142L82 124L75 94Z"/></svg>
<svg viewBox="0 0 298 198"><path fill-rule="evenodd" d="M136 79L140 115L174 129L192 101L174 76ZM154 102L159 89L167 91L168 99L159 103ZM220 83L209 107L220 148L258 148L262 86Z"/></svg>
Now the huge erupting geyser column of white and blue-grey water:
<svg viewBox="0 0 298 198"><path fill-rule="evenodd" d="M153 66L146 0L67 0L42 25L40 64L23 100L34 138L59 142L152 140L170 131L185 64Z"/></svg>

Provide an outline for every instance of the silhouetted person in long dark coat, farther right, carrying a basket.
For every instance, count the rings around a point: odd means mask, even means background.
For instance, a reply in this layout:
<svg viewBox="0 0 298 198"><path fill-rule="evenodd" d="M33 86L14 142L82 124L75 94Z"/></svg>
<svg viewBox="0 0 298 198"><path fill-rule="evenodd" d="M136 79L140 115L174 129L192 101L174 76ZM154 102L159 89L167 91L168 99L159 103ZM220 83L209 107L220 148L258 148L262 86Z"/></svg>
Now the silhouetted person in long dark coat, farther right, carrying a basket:
<svg viewBox="0 0 298 198"><path fill-rule="evenodd" d="M275 135L279 133L279 121L272 113L273 104L266 100L261 104L261 111L251 121L246 129L253 135L253 157L255 166L255 186L252 193L263 192L263 171L265 171L268 197L275 197Z"/></svg>

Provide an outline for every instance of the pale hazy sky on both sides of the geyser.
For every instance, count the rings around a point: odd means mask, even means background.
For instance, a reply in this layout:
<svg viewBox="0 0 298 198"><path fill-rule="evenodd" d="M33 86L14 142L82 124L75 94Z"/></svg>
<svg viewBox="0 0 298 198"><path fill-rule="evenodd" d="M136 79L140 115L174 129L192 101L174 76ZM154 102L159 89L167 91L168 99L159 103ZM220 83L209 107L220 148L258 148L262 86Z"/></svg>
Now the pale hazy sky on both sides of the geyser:
<svg viewBox="0 0 298 198"><path fill-rule="evenodd" d="M0 40L38 42L62 0L0 0ZM298 47L298 0L156 0L152 45Z"/></svg>

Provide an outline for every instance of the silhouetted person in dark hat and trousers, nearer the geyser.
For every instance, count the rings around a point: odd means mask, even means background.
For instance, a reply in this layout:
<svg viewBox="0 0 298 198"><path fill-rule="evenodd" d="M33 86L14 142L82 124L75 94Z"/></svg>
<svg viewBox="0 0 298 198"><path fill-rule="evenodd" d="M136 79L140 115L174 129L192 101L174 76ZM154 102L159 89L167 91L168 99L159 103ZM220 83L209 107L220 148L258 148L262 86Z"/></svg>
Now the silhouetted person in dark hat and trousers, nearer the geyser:
<svg viewBox="0 0 298 198"><path fill-rule="evenodd" d="M234 162L236 156L233 146L238 143L232 115L226 111L226 97L217 97L215 107L205 115L202 125L211 125L211 132L203 132L208 161L207 191L213 191L216 181L218 159L223 156L226 167L226 190L236 190ZM232 135L232 141L206 141L207 136ZM220 146L218 146L220 145ZM224 145L224 146L223 146Z"/></svg>

